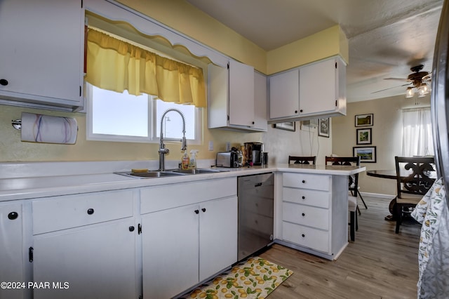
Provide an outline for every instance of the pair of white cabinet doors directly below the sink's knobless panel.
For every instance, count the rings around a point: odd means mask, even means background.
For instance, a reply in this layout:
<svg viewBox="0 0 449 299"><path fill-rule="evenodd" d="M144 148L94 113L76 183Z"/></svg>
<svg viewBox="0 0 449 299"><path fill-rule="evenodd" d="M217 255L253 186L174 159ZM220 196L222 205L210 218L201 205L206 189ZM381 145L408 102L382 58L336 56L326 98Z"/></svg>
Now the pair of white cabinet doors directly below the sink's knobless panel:
<svg viewBox="0 0 449 299"><path fill-rule="evenodd" d="M172 298L237 260L237 197L142 215L144 298Z"/></svg>

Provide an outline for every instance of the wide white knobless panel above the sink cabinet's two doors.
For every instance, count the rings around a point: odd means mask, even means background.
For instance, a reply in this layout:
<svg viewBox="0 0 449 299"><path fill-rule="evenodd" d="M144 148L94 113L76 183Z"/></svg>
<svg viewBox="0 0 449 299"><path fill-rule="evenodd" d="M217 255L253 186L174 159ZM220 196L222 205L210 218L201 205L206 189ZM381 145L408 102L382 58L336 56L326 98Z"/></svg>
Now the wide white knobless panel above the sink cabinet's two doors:
<svg viewBox="0 0 449 299"><path fill-rule="evenodd" d="M152 213L210 199L232 197L236 194L236 178L149 187L140 191L140 213Z"/></svg>

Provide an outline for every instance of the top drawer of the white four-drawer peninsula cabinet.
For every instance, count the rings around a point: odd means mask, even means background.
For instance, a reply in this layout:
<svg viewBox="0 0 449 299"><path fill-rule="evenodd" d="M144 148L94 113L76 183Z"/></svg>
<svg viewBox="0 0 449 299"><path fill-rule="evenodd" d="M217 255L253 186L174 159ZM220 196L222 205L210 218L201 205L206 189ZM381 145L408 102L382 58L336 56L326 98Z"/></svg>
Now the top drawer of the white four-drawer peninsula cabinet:
<svg viewBox="0 0 449 299"><path fill-rule="evenodd" d="M283 186L313 190L330 190L330 175L309 173L283 173Z"/></svg>

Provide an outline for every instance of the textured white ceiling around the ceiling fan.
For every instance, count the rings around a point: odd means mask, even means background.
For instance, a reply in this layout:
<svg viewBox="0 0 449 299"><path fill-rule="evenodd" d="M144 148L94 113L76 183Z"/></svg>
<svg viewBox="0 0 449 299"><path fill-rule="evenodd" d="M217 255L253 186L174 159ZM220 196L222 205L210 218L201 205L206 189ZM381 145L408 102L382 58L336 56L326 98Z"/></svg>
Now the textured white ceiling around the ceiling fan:
<svg viewBox="0 0 449 299"><path fill-rule="evenodd" d="M185 0L266 51L339 24L349 39L347 100L401 95L431 72L443 0ZM398 87L399 86L399 87ZM387 91L373 93L385 88Z"/></svg>

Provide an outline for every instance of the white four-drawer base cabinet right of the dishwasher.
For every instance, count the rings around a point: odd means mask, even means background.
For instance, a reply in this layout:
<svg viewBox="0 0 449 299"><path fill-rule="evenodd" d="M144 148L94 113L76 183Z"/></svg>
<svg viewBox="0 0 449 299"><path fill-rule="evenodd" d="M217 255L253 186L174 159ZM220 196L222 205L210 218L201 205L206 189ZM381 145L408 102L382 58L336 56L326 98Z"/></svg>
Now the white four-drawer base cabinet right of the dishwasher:
<svg viewBox="0 0 449 299"><path fill-rule="evenodd" d="M347 177L283 173L282 240L323 258L347 245Z"/></svg>

